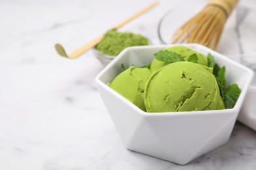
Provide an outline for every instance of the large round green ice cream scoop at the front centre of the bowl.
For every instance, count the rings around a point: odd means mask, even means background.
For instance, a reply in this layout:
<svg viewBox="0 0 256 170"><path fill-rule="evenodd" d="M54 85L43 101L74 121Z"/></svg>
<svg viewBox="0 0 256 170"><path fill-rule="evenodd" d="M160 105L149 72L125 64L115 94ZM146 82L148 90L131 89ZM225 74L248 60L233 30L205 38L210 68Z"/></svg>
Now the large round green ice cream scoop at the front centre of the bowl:
<svg viewBox="0 0 256 170"><path fill-rule="evenodd" d="M181 61L155 71L146 82L147 112L224 109L212 69Z"/></svg>

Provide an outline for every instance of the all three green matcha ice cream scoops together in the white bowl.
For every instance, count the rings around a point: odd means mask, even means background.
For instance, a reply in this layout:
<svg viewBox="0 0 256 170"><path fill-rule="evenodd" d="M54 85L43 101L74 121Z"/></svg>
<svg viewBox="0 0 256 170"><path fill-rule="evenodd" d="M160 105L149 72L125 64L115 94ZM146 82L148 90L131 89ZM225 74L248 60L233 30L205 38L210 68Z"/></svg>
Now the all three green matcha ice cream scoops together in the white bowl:
<svg viewBox="0 0 256 170"><path fill-rule="evenodd" d="M186 46L164 48L185 61L152 59L150 69L131 66L110 82L110 88L146 112L225 109L213 68L207 57ZM196 54L198 63L186 61Z"/></svg>

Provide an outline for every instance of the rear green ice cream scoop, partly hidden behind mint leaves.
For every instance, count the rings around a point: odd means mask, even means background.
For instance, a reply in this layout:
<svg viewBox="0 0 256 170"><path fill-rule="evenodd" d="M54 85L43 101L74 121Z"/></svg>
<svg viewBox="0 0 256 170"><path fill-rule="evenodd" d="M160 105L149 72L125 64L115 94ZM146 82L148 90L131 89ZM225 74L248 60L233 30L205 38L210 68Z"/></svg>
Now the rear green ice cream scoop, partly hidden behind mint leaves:
<svg viewBox="0 0 256 170"><path fill-rule="evenodd" d="M187 61L189 56L191 56L192 54L196 54L196 56L198 56L198 63L200 63L202 65L207 65L207 63L208 63L206 56L204 56L203 54L201 54L199 52L196 52L196 51L194 51L191 48L188 48L186 46L172 46L172 47L169 47L169 48L165 48L163 50L175 52L176 54L179 54L182 58L184 58L185 61ZM158 59L154 58L152 60L151 65L150 65L150 70L152 72L157 71L158 69L160 69L161 67L163 67L167 64L168 63L165 63L163 61L159 61Z"/></svg>

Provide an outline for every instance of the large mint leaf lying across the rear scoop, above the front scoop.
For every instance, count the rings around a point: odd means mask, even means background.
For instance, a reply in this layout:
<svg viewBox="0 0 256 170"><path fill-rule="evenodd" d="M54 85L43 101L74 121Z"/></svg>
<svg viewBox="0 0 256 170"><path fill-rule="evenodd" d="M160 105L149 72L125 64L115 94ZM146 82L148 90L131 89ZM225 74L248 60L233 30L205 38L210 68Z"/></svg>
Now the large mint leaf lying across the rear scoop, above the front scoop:
<svg viewBox="0 0 256 170"><path fill-rule="evenodd" d="M184 58L182 58L179 54L167 50L161 50L155 53L154 57L165 63L175 63L178 61L184 61Z"/></svg>

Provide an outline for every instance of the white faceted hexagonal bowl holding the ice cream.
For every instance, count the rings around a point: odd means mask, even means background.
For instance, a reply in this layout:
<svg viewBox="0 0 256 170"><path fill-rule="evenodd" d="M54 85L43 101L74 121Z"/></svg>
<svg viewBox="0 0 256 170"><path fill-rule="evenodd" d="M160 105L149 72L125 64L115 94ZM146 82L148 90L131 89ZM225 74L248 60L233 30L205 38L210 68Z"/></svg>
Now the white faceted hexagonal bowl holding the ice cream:
<svg viewBox="0 0 256 170"><path fill-rule="evenodd" d="M220 66L226 66L226 84L236 83L242 89L233 109L147 113L107 85L121 73L121 63L127 67L146 65L154 53L173 45L126 48L95 80L127 149L184 165L228 141L253 71L200 44L182 45L205 55L211 53Z"/></svg>

